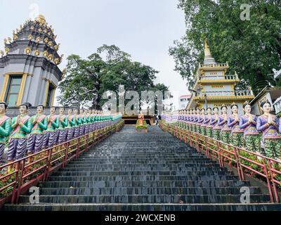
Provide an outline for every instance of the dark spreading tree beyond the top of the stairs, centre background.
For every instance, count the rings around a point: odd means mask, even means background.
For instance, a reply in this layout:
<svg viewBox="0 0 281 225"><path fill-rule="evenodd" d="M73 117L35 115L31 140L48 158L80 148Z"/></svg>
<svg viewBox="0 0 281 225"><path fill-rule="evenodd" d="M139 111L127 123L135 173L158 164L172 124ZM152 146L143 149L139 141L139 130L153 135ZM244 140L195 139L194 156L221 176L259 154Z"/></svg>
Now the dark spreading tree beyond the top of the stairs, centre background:
<svg viewBox="0 0 281 225"><path fill-rule="evenodd" d="M63 105L77 104L100 109L106 100L105 91L168 91L164 84L155 84L158 71L148 65L131 60L129 53L115 45L100 46L86 59L77 55L67 57L66 75L59 84L58 101ZM79 100L78 100L79 98ZM86 105L85 105L86 106Z"/></svg>

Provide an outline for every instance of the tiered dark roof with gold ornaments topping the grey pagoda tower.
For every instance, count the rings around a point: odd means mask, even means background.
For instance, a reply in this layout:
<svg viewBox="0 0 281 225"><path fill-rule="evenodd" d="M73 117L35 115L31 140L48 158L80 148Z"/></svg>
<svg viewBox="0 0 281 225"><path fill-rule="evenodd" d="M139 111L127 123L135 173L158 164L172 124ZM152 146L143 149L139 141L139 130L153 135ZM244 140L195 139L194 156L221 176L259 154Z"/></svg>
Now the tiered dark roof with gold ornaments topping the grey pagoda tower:
<svg viewBox="0 0 281 225"><path fill-rule="evenodd" d="M27 60L36 66L53 70L57 77L62 76L58 68L63 55L58 54L60 44L57 44L53 28L46 23L44 15L38 15L34 20L26 20L20 28L13 30L13 39L4 39L5 49L0 51L0 67L17 60Z"/></svg>

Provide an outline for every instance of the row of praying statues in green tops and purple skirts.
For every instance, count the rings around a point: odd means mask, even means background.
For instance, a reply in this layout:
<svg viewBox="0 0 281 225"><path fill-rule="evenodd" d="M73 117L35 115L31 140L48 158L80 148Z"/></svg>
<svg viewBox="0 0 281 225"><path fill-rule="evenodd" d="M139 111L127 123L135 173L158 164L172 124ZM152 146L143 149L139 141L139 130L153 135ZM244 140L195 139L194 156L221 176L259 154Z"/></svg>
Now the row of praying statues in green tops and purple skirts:
<svg viewBox="0 0 281 225"><path fill-rule="evenodd" d="M30 103L22 103L20 115L9 118L6 116L8 105L0 102L0 159L8 142L8 162L20 160L28 153L37 153L42 149L71 141L96 129L116 124L122 115L105 115L100 110L79 110L59 107L50 108L50 114L44 115L44 105L37 105L37 114L30 117Z"/></svg>

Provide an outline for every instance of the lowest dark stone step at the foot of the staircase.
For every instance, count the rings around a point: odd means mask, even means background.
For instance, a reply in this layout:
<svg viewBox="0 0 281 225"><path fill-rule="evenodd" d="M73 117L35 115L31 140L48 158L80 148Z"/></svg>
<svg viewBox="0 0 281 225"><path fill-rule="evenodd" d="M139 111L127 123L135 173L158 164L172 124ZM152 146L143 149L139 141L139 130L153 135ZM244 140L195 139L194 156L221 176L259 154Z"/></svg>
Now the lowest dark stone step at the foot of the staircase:
<svg viewBox="0 0 281 225"><path fill-rule="evenodd" d="M163 203L81 203L81 204L7 204L4 211L281 211L281 204L163 204Z"/></svg>

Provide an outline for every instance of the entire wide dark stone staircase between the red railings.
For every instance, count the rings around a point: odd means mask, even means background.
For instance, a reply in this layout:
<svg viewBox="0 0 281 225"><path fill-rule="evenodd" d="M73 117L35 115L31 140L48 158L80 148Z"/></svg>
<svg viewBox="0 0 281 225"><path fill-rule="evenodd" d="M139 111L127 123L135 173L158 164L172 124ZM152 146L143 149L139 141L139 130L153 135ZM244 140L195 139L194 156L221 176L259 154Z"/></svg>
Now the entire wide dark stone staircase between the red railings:
<svg viewBox="0 0 281 225"><path fill-rule="evenodd" d="M240 203L248 186L249 204ZM39 184L39 204L21 195L4 210L281 210L249 181L159 127L124 127Z"/></svg>

